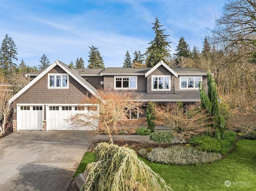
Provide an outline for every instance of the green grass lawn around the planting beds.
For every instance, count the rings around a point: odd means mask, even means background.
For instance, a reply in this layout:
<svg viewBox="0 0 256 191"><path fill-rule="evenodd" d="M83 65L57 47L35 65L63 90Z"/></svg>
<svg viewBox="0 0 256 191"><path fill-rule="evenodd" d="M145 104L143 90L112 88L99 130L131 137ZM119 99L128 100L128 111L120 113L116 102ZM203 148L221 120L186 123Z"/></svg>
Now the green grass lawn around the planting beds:
<svg viewBox="0 0 256 191"><path fill-rule="evenodd" d="M142 159L158 173L173 191L256 191L256 140L239 140L235 149L224 159L206 165L177 166L150 162ZM87 152L82 160L82 173L87 163L95 161L95 155ZM80 166L79 166L80 167ZM78 168L79 168L78 167ZM224 182L231 181L226 187ZM232 182L249 181L250 185L232 185Z"/></svg>

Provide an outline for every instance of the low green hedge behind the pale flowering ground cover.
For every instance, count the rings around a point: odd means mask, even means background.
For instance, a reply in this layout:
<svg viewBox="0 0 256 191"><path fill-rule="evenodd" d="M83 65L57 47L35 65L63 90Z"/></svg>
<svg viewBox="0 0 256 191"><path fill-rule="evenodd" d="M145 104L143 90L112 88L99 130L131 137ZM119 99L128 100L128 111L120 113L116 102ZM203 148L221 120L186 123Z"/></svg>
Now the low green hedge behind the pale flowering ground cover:
<svg viewBox="0 0 256 191"><path fill-rule="evenodd" d="M230 130L226 130L224 139L215 139L210 136L200 135L190 138L190 144L200 151L204 152L219 152L222 155L226 155L234 145L236 140L236 133Z"/></svg>

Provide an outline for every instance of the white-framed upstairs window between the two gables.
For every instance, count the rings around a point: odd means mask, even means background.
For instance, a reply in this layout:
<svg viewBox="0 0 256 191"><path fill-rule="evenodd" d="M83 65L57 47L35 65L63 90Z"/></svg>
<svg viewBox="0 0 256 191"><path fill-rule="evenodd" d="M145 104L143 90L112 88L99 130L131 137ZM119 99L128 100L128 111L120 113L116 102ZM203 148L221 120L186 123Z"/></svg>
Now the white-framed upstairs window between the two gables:
<svg viewBox="0 0 256 191"><path fill-rule="evenodd" d="M115 78L114 89L137 89L137 77L118 76Z"/></svg>

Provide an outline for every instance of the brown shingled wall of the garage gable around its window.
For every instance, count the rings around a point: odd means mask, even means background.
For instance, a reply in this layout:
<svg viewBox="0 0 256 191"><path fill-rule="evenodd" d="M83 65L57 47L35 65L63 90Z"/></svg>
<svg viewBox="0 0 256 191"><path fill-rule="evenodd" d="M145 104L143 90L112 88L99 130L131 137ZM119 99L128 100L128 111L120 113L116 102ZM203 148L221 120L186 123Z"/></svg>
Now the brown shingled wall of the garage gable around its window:
<svg viewBox="0 0 256 191"><path fill-rule="evenodd" d="M66 73L59 66L54 67L49 73ZM68 89L48 89L48 75L44 75L27 91L20 95L14 101L14 110L16 104L79 104L88 91L80 85L75 79L69 76ZM45 119L44 105L44 119ZM13 115L16 120L16 113Z"/></svg>

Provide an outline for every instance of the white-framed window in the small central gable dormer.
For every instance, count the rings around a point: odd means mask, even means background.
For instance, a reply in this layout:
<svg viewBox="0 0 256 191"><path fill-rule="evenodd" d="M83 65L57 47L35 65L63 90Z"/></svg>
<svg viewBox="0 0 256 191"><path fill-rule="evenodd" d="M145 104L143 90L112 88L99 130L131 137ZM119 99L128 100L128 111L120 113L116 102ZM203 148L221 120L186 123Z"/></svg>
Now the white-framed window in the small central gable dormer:
<svg viewBox="0 0 256 191"><path fill-rule="evenodd" d="M170 76L152 76L152 91L171 90Z"/></svg>

